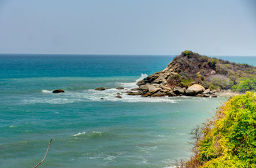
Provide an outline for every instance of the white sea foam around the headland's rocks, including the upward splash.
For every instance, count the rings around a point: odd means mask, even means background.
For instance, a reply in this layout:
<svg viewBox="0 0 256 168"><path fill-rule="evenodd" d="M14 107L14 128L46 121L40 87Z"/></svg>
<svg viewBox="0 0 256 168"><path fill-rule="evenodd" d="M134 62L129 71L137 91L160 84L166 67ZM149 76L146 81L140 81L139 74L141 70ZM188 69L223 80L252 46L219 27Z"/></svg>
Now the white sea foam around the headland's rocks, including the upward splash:
<svg viewBox="0 0 256 168"><path fill-rule="evenodd" d="M72 104L77 102L167 102L175 103L177 99L171 97L141 97L140 95L130 96L127 95L126 91L132 88L138 87L137 82L146 78L148 75L146 73L141 73L141 76L134 80L132 83L115 83L113 82L113 88L106 90L70 90L65 94L49 94L52 93L51 90L41 90L42 93L47 93L45 96L36 97L34 99L24 99L23 103L25 104ZM117 90L115 87L124 87L124 90ZM117 92L120 93L122 99L115 97ZM47 96L46 96L47 95ZM101 99L103 98L103 99Z"/></svg>

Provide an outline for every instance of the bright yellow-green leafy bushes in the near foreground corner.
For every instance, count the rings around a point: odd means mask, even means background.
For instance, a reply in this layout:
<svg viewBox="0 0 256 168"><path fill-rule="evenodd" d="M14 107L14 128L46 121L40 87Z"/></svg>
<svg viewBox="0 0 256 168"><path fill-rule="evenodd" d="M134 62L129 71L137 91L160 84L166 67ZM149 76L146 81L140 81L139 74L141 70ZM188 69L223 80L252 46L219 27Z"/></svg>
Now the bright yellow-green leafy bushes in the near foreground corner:
<svg viewBox="0 0 256 168"><path fill-rule="evenodd" d="M256 94L229 99L192 134L193 157L177 167L256 167Z"/></svg>

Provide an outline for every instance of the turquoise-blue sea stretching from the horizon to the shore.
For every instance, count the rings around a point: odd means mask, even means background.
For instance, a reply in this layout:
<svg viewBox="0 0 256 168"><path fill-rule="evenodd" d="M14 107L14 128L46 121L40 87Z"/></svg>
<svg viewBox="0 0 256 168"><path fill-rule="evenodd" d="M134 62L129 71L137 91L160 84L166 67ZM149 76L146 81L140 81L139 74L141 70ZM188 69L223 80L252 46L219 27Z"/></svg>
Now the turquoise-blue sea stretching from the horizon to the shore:
<svg viewBox="0 0 256 168"><path fill-rule="evenodd" d="M173 58L0 55L0 167L34 167L51 137L39 167L167 168L189 158L191 129L227 98L150 98L115 89L136 87ZM217 58L256 66L256 57ZM65 93L52 94L56 89Z"/></svg>

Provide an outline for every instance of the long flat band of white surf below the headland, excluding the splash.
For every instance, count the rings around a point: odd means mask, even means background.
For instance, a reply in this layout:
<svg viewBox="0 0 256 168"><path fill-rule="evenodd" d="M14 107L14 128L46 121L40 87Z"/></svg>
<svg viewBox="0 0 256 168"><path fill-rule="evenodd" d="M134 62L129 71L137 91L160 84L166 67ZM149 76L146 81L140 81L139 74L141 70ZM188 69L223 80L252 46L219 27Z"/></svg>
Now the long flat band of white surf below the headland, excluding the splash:
<svg viewBox="0 0 256 168"><path fill-rule="evenodd" d="M122 99L119 99L117 92ZM101 99L103 98L103 99ZM37 97L34 99L23 99L23 104L72 104L76 102L167 102L175 103L182 100L174 97L141 97L140 95L127 95L126 90L107 89L107 90L84 90L83 92L67 92L66 94L48 94L47 97Z"/></svg>

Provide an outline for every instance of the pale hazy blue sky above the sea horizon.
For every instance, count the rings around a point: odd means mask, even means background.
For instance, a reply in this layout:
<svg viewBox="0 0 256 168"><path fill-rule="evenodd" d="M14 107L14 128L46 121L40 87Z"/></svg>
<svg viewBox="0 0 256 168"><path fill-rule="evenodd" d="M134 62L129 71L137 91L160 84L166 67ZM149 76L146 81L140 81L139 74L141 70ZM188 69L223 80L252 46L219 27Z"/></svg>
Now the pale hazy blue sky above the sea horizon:
<svg viewBox="0 0 256 168"><path fill-rule="evenodd" d="M0 53L256 56L255 0L0 0Z"/></svg>

